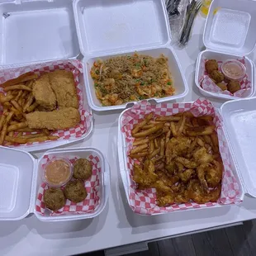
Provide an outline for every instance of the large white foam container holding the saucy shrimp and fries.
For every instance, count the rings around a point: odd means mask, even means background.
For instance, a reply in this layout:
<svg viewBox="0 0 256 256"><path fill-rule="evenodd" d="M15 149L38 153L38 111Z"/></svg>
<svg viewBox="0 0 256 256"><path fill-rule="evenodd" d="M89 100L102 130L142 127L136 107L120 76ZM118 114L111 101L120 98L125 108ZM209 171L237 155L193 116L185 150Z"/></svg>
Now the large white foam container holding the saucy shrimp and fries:
<svg viewBox="0 0 256 256"><path fill-rule="evenodd" d="M239 198L241 201L244 200L245 194L256 197L256 174L254 172L256 164L254 157L254 141L256 140L254 132L256 129L255 106L256 97L251 97L249 99L225 102L219 110L220 116L223 118L223 130L230 153L230 168L233 170L237 183L240 186ZM127 168L127 145L126 137L121 132L121 122L126 111L129 111L129 109L122 111L119 116L117 150L121 180L126 192L126 201L130 205L131 183L130 173ZM222 206L225 206L225 204L211 206L211 208ZM181 211L198 211L201 209L204 208L181 209ZM153 213L151 215L159 214L163 213Z"/></svg>

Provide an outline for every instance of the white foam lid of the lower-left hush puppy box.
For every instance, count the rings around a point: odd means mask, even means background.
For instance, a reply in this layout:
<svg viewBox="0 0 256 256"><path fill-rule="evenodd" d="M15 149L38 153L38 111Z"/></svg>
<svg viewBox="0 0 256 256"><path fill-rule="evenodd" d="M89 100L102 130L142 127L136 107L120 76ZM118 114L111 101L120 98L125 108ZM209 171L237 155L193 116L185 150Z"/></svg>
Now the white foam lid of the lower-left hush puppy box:
<svg viewBox="0 0 256 256"><path fill-rule="evenodd" d="M21 220L31 212L36 163L31 154L0 147L0 220Z"/></svg>

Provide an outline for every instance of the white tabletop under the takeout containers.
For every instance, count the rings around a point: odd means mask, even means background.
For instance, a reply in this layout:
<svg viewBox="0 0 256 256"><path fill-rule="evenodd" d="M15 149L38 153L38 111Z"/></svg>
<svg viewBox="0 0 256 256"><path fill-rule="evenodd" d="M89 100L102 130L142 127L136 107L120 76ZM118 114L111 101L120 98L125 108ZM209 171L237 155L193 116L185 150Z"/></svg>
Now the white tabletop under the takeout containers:
<svg viewBox="0 0 256 256"><path fill-rule="evenodd" d="M197 18L189 45L184 50L176 50L189 85L186 101L201 96L193 81L195 61L203 47L203 24L204 20ZM216 100L215 102L220 104ZM89 140L72 145L93 146L107 156L111 166L111 194L102 214L93 220L58 223L41 222L33 215L21 221L2 221L0 255L81 254L141 241L185 235L256 218L256 199L252 197L245 197L240 206L178 211L164 216L135 215L126 203L117 167L116 140L119 114L118 111L94 113L94 130Z"/></svg>

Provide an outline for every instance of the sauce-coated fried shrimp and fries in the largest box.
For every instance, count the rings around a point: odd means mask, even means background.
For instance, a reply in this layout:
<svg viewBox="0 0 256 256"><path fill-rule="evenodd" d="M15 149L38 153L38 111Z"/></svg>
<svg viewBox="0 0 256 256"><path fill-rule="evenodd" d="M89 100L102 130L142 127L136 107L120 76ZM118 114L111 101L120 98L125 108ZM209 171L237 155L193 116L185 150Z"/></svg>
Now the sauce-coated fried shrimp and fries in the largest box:
<svg viewBox="0 0 256 256"><path fill-rule="evenodd" d="M145 116L131 133L130 158L140 162L133 176L139 189L154 187L159 206L217 201L223 167L215 129L212 116L191 112Z"/></svg>

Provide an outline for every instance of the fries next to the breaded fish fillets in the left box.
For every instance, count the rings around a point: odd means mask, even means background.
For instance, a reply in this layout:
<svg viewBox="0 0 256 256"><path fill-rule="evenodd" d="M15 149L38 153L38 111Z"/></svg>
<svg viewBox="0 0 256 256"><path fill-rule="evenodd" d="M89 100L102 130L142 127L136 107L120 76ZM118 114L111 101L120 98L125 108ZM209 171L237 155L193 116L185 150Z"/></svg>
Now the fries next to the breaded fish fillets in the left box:
<svg viewBox="0 0 256 256"><path fill-rule="evenodd" d="M24 73L0 85L5 92L0 92L0 104L3 107L0 114L0 145L9 146L59 139L58 136L50 135L47 129L36 130L27 127L25 113L34 111L38 106L31 92L36 78L38 78L36 74ZM23 135L24 132L30 132L30 134ZM144 140L138 145L146 143L147 140Z"/></svg>

